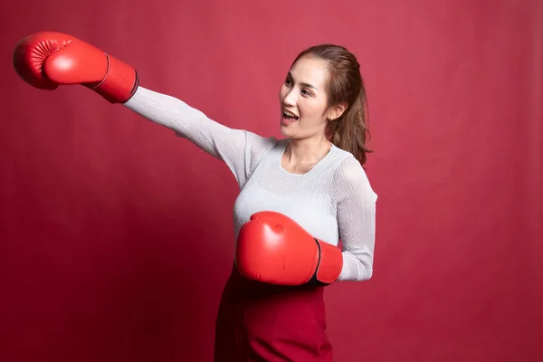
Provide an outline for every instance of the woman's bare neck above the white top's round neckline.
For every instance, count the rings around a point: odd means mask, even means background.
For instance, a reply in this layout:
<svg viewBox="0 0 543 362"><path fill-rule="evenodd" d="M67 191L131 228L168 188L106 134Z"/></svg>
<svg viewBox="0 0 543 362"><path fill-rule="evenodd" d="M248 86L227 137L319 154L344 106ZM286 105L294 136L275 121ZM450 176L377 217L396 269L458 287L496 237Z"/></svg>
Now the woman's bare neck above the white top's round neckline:
<svg viewBox="0 0 543 362"><path fill-rule="evenodd" d="M331 147L326 138L289 139L284 156L291 165L311 165L326 157Z"/></svg>

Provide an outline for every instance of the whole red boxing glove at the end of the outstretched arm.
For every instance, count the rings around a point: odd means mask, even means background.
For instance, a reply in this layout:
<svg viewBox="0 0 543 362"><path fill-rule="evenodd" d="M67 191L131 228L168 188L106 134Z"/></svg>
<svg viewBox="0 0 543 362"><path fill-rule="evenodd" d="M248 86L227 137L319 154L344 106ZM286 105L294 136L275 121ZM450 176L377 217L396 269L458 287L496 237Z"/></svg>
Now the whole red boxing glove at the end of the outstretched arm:
<svg viewBox="0 0 543 362"><path fill-rule="evenodd" d="M138 89L137 71L129 64L64 33L26 36L15 46L14 68L35 88L81 84L110 103L124 103Z"/></svg>

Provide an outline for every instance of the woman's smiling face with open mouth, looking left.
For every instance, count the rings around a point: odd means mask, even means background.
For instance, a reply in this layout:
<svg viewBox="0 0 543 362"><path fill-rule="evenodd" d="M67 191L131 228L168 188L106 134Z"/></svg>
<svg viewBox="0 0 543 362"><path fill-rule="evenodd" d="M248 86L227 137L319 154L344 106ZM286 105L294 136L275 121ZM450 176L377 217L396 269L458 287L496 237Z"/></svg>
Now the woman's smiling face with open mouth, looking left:
<svg viewBox="0 0 543 362"><path fill-rule="evenodd" d="M326 62L305 56L281 85L281 133L288 138L324 136L329 119Z"/></svg>

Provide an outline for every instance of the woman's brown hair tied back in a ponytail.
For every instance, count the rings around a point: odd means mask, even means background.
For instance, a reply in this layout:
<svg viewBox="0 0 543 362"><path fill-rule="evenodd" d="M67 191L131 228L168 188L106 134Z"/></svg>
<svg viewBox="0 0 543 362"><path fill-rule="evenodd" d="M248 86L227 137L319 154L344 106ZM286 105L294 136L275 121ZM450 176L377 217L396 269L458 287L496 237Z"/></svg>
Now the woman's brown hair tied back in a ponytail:
<svg viewBox="0 0 543 362"><path fill-rule="evenodd" d="M366 154L372 151L366 147L370 138L367 128L367 95L357 58L343 46L334 44L312 46L300 52L293 63L303 56L314 56L328 63L329 107L342 102L348 104L338 119L329 120L327 138L338 148L352 153L364 165Z"/></svg>

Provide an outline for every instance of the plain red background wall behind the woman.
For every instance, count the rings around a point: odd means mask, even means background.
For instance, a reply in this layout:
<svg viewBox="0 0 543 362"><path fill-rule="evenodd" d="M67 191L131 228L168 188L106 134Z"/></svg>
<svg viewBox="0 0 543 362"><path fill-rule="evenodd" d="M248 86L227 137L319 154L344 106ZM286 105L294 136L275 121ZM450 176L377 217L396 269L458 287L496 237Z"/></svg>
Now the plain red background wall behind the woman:
<svg viewBox="0 0 543 362"><path fill-rule="evenodd" d="M211 360L232 264L227 168L83 87L20 81L40 30L275 136L294 56L348 46L379 200L374 278L328 288L336 360L541 360L542 3L195 3L3 3L0 360Z"/></svg>

